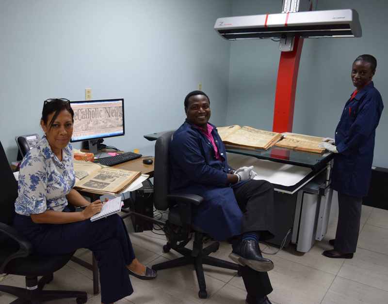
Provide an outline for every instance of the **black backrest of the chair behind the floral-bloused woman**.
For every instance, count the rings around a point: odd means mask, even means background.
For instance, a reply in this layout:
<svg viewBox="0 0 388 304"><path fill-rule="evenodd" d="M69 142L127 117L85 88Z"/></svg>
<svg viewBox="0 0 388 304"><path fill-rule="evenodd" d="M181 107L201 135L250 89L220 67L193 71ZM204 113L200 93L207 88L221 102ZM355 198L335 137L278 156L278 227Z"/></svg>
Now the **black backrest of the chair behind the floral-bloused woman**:
<svg viewBox="0 0 388 304"><path fill-rule="evenodd" d="M17 181L0 142L0 222L11 225L15 218Z"/></svg>

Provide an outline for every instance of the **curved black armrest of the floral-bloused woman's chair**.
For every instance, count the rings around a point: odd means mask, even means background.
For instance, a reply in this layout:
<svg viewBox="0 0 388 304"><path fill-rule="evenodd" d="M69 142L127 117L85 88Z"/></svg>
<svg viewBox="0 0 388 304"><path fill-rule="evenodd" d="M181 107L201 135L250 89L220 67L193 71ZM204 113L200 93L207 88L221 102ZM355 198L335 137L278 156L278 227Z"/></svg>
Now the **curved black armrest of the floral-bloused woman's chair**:
<svg viewBox="0 0 388 304"><path fill-rule="evenodd" d="M5 235L14 239L20 245L20 249L15 253L11 254L8 258L6 258L3 264L0 266L0 274L4 273L5 267L7 264L13 260L14 258L23 258L30 255L33 251L32 243L27 240L27 238L17 231L15 228L8 226L4 223L0 223L0 233L4 233Z"/></svg>

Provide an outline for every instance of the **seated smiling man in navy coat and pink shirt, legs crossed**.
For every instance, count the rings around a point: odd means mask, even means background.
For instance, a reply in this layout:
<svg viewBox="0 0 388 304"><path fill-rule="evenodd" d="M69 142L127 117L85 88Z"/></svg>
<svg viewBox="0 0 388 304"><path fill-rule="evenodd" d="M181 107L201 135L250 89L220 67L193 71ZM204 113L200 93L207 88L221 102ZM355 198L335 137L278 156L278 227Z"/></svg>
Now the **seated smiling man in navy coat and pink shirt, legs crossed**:
<svg viewBox="0 0 388 304"><path fill-rule="evenodd" d="M184 102L186 121L170 139L170 192L194 193L204 198L192 206L193 222L217 241L233 236L229 258L239 264L247 304L271 304L267 272L274 268L263 258L259 240L274 237L274 188L253 180L253 167L234 170L217 129L209 122L210 100L202 91L190 92Z"/></svg>

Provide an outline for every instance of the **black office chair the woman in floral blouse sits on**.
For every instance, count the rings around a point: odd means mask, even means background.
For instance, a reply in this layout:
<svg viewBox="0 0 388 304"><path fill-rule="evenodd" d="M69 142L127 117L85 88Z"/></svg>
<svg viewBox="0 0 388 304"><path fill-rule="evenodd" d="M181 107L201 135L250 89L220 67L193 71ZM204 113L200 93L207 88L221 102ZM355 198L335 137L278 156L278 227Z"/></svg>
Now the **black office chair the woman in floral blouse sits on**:
<svg viewBox="0 0 388 304"><path fill-rule="evenodd" d="M17 297L11 304L40 304L61 298L77 298L86 303L87 293L82 291L42 290L53 279L53 273L65 266L74 252L62 256L35 256L32 243L12 228L15 217L17 182L0 142L0 274L26 276L26 288L0 285L0 291ZM42 278L38 281L38 276Z"/></svg>

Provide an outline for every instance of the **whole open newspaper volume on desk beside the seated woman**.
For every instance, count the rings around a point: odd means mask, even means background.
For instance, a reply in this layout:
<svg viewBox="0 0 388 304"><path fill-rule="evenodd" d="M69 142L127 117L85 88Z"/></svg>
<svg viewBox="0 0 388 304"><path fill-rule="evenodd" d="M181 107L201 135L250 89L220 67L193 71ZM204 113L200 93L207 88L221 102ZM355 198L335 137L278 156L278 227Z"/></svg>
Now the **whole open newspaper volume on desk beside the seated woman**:
<svg viewBox="0 0 388 304"><path fill-rule="evenodd" d="M118 194L136 180L140 171L103 167L96 163L74 160L76 183L74 188L97 193Z"/></svg>

